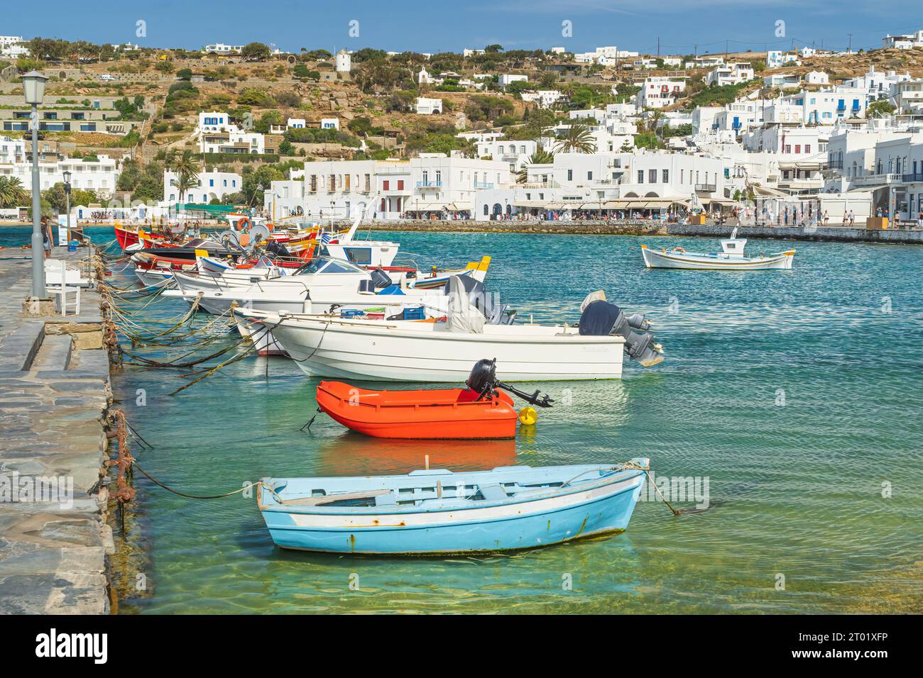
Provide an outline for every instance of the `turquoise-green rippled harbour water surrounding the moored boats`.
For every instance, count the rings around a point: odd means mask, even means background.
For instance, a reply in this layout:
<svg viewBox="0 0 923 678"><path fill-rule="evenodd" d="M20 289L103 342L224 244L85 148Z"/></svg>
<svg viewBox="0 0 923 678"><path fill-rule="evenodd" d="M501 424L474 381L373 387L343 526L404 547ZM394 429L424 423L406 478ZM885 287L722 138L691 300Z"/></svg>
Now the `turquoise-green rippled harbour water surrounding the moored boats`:
<svg viewBox="0 0 923 678"><path fill-rule="evenodd" d="M173 372L126 367L114 390L155 445L137 452L145 470L214 494L267 475L405 472L426 454L450 469L642 455L657 476L707 478L713 508L641 502L622 535L508 556L335 557L274 548L253 500L191 501L138 477L150 597L123 612L923 612L923 248L797 243L791 271L733 273L643 268L641 240L716 249L707 239L393 238L421 266L493 256L488 287L521 318L575 322L603 289L649 315L666 360L547 384L559 404L532 433L465 444L364 438L323 415L299 433L317 382L281 358L174 398Z"/></svg>

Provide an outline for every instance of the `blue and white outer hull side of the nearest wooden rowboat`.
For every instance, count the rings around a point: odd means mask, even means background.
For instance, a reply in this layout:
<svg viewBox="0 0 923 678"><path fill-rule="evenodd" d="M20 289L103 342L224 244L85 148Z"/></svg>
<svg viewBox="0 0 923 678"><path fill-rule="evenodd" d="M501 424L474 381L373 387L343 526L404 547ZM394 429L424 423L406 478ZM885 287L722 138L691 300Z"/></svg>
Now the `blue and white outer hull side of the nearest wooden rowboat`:
<svg viewBox="0 0 923 678"><path fill-rule="evenodd" d="M497 553L549 546L628 529L643 471L592 489L534 501L464 509L298 513L262 506L272 541L283 549L376 555ZM430 479L434 484L439 476ZM440 482L454 482L452 474ZM265 494L264 494L265 493Z"/></svg>

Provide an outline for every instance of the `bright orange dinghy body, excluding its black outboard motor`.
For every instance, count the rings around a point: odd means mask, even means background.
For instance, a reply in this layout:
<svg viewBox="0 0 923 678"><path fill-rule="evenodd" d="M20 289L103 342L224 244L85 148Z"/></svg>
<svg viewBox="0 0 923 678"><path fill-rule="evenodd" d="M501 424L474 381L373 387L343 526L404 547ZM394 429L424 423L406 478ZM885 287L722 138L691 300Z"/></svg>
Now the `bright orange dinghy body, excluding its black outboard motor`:
<svg viewBox="0 0 923 678"><path fill-rule="evenodd" d="M378 438L487 439L516 436L516 409L503 391L468 388L369 391L322 381L318 407L343 426Z"/></svg>

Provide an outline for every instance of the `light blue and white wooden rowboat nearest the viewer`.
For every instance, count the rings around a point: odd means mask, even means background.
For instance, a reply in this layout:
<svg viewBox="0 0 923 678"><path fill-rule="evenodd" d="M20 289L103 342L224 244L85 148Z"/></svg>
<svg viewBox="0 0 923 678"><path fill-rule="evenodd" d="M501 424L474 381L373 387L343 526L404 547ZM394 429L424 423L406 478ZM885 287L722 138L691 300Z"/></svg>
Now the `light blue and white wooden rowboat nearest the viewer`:
<svg viewBox="0 0 923 678"><path fill-rule="evenodd" d="M495 553L627 529L649 461L264 478L257 504L272 541L283 549Z"/></svg>

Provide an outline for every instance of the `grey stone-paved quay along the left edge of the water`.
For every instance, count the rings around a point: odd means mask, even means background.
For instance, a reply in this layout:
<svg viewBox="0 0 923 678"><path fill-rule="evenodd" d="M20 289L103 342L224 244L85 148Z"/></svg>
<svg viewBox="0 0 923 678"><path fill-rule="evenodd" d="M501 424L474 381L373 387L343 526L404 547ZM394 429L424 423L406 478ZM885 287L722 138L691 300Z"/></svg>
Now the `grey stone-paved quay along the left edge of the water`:
<svg viewBox="0 0 923 678"><path fill-rule="evenodd" d="M24 317L26 253L0 253L0 614L108 613L100 298L84 289L80 315Z"/></svg>

